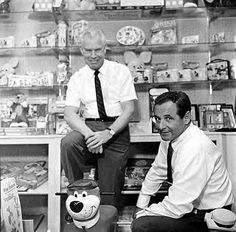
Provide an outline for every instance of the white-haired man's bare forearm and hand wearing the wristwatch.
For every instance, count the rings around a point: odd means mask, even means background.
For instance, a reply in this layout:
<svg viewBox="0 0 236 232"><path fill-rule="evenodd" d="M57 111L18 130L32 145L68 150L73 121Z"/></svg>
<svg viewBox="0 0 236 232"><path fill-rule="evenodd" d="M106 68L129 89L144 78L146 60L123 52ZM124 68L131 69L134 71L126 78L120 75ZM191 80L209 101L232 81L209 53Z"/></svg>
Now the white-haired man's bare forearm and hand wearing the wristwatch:
<svg viewBox="0 0 236 232"><path fill-rule="evenodd" d="M128 125L134 112L134 100L121 102L121 107L122 114L109 126L109 128L115 131L115 134L122 131ZM88 137L86 144L89 149L95 149L111 138L112 135L109 133L109 130L97 131Z"/></svg>

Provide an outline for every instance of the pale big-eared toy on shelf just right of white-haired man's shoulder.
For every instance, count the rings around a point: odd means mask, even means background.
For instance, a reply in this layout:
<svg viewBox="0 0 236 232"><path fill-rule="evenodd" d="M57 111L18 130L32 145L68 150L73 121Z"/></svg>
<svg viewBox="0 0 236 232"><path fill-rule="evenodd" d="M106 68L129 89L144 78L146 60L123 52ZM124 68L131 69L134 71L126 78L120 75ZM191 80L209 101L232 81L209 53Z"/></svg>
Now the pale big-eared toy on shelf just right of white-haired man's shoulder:
<svg viewBox="0 0 236 232"><path fill-rule="evenodd" d="M124 53L124 60L130 69L134 82L143 83L143 82L151 82L149 77L144 75L145 64L149 63L152 58L152 53L150 51L141 52L139 56L137 56L132 51L126 51Z"/></svg>

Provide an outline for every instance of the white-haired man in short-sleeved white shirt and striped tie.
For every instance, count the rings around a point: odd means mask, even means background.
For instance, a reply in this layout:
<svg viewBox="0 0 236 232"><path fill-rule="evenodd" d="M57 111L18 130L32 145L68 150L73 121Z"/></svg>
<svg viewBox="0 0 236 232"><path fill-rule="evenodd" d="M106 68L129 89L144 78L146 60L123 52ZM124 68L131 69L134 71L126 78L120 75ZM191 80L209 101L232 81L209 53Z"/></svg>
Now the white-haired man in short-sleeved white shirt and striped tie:
<svg viewBox="0 0 236 232"><path fill-rule="evenodd" d="M119 208L130 144L128 123L137 99L133 79L127 66L105 59L101 30L83 33L81 53L86 65L70 78L66 92L65 120L73 131L61 141L62 167L72 183L83 178L86 166L97 165L101 204Z"/></svg>

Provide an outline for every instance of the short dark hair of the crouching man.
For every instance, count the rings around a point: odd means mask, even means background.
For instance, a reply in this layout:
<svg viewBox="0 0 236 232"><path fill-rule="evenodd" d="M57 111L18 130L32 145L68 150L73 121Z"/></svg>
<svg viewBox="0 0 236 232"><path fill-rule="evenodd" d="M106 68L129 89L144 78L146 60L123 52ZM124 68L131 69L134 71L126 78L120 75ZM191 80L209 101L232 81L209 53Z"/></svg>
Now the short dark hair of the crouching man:
<svg viewBox="0 0 236 232"><path fill-rule="evenodd" d="M177 114L183 118L187 111L191 112L191 101L188 95L184 92L170 91L159 95L155 100L155 105L172 101L176 103Z"/></svg>

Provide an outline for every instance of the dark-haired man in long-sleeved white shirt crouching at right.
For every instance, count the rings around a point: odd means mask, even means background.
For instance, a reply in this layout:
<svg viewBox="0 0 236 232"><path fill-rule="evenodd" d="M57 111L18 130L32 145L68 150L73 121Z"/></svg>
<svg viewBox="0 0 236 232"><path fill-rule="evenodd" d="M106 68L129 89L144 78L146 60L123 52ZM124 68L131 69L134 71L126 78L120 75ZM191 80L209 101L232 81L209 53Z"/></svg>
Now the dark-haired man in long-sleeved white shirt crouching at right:
<svg viewBox="0 0 236 232"><path fill-rule="evenodd" d="M183 92L155 100L162 141L142 184L132 232L207 232L206 212L230 209L232 184L221 152L191 122L191 102ZM171 184L161 202L149 205L165 180Z"/></svg>

